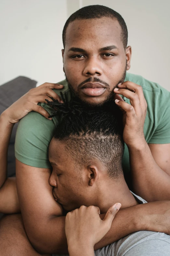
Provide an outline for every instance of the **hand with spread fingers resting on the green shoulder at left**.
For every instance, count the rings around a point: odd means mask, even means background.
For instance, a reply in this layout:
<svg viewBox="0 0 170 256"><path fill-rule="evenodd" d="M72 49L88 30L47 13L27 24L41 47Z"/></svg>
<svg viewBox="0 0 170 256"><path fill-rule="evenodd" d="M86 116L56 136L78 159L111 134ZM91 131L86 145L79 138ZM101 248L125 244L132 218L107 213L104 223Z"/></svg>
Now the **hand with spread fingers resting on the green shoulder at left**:
<svg viewBox="0 0 170 256"><path fill-rule="evenodd" d="M52 118L49 118L49 113L43 107L37 105L39 102L47 103L46 99L52 101L50 97L63 103L61 98L52 89L63 89L63 85L44 83L33 88L7 108L3 114L9 123L12 124L19 122L22 117L31 111L36 111L47 119L52 120Z"/></svg>

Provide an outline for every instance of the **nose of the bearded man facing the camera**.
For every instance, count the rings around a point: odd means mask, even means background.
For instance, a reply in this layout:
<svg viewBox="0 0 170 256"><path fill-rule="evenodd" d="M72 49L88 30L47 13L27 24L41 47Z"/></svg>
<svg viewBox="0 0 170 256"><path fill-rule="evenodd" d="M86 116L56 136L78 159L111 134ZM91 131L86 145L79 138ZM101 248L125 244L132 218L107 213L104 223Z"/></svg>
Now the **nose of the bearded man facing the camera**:
<svg viewBox="0 0 170 256"><path fill-rule="evenodd" d="M101 76L102 75L102 67L101 62L97 58L97 56L91 56L86 62L85 62L85 68L83 70L83 75L88 76Z"/></svg>

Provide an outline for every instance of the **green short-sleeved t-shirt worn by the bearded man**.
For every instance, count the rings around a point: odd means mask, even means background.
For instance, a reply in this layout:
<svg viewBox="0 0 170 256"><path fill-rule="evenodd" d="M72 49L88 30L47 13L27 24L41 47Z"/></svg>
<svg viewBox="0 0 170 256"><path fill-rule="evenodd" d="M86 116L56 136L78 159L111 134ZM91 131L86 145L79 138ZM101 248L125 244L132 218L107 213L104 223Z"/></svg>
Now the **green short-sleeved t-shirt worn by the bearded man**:
<svg viewBox="0 0 170 256"><path fill-rule="evenodd" d="M126 74L125 81L132 81L143 88L148 104L144 125L147 143L170 143L170 92L157 83L130 73ZM59 84L63 84L64 88L62 90L54 89L54 91L59 95L60 92L63 92L70 100L72 94L66 81L63 80ZM130 103L129 99L126 98L126 102ZM45 103L39 103L39 105L44 107L49 114L51 113L52 109ZM62 120L61 114L53 117L52 120L48 120L34 111L23 117L19 122L15 139L16 158L30 166L50 168L48 147L53 137L54 129L60 120ZM128 175L130 172L129 152L126 145L123 156L123 171L125 175Z"/></svg>

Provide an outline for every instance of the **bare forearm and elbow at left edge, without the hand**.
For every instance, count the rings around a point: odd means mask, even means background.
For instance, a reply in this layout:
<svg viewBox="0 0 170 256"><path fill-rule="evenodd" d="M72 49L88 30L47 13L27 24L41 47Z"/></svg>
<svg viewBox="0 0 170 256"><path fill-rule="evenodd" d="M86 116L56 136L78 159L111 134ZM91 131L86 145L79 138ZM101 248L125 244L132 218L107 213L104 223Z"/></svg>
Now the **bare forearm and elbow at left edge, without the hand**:
<svg viewBox="0 0 170 256"><path fill-rule="evenodd" d="M6 112L0 115L0 213L18 213L15 178L7 178L7 150L14 124L7 119Z"/></svg>

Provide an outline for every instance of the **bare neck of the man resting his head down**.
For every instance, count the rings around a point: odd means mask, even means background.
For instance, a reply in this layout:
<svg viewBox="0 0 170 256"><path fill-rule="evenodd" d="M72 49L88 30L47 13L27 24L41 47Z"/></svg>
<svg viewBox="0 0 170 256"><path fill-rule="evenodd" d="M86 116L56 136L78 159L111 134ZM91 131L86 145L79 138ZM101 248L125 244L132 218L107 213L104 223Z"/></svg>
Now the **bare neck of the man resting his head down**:
<svg viewBox="0 0 170 256"><path fill-rule="evenodd" d="M111 179L102 181L102 185L98 189L97 206L101 213L106 213L115 203L121 203L121 209L138 204L123 175L119 181Z"/></svg>

